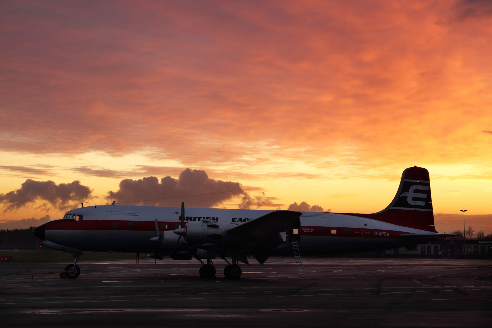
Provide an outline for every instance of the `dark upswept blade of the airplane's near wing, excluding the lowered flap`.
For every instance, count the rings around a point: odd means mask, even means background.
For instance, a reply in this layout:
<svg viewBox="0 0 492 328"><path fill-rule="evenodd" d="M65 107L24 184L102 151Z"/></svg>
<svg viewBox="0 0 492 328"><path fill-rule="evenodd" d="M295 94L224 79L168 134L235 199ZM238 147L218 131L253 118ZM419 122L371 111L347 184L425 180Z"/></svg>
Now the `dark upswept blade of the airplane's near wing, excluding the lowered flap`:
<svg viewBox="0 0 492 328"><path fill-rule="evenodd" d="M227 232L245 238L265 238L277 232L287 231L290 226L299 220L300 212L278 210L243 224L227 229Z"/></svg>

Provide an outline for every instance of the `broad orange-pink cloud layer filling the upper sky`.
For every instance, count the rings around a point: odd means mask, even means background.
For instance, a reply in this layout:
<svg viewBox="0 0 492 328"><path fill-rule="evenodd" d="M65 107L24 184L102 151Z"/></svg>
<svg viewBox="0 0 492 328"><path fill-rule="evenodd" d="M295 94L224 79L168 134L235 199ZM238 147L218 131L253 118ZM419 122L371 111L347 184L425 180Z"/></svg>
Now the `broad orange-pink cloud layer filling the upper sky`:
<svg viewBox="0 0 492 328"><path fill-rule="evenodd" d="M193 166L254 160L256 143L307 162L351 145L349 165L481 159L492 28L478 4L10 2L0 149L153 147Z"/></svg>

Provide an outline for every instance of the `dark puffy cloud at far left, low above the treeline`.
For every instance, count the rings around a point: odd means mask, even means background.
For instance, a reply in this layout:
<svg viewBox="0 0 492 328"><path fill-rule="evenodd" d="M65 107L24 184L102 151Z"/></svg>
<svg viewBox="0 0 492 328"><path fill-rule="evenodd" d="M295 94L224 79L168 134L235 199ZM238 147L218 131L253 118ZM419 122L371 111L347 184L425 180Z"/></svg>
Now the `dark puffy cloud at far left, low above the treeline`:
<svg viewBox="0 0 492 328"><path fill-rule="evenodd" d="M20 189L0 194L0 203L4 211L18 210L21 207L34 204L36 201L44 201L41 208L48 208L49 205L64 210L72 207L75 203L87 200L91 197L92 190L75 180L70 183L34 181L27 179Z"/></svg>

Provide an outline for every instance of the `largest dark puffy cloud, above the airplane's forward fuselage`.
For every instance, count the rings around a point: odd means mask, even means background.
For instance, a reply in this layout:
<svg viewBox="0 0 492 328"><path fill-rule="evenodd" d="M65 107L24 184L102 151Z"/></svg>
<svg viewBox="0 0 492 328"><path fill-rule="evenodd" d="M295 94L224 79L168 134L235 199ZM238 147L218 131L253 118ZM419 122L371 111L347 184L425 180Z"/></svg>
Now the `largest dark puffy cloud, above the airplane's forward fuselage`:
<svg viewBox="0 0 492 328"><path fill-rule="evenodd" d="M188 207L212 207L241 194L243 190L239 182L210 179L203 170L186 168L178 179L170 176L160 181L155 176L124 179L120 182L120 189L108 192L106 198L117 203L179 206L184 201Z"/></svg>

